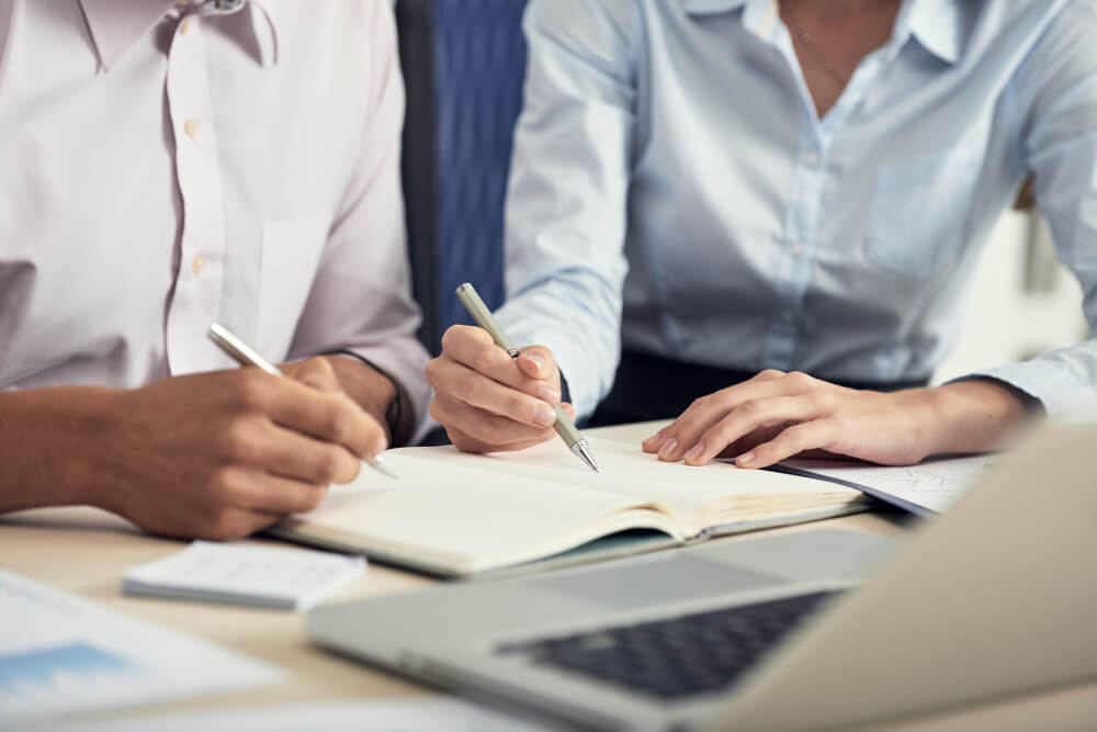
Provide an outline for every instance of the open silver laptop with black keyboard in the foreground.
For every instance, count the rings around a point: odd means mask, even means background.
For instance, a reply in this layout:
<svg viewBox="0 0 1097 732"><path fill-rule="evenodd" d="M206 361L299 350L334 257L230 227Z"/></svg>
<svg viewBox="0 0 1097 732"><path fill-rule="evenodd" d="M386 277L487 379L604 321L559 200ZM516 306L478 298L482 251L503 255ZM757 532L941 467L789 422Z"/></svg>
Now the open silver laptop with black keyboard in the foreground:
<svg viewBox="0 0 1097 732"><path fill-rule="evenodd" d="M1095 447L1040 430L902 547L742 537L321 607L307 633L566 729L848 729L1097 679Z"/></svg>

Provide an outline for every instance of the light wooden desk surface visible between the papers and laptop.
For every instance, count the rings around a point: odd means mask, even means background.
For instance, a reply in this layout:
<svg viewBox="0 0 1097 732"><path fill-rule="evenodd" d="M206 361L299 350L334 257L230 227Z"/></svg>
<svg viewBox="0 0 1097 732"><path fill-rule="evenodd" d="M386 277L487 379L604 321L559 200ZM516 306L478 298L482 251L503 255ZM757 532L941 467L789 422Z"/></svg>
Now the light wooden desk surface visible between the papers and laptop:
<svg viewBox="0 0 1097 732"><path fill-rule="evenodd" d="M647 430L641 431L646 437ZM603 428L591 430L591 433L598 433L602 438L634 439L637 430L635 427ZM903 531L894 516L887 514L860 514L830 519L825 523L885 536ZM795 531L802 530L802 527L777 530ZM721 539L735 540L737 537ZM262 539L249 541L270 543ZM76 593L113 610L185 630L253 658L267 661L290 673L287 679L276 686L146 706L114 712L109 718L272 702L391 699L436 694L313 647L305 638L302 613L122 595L122 576L127 567L167 556L184 545L185 542L144 534L123 519L92 508L36 509L0 517L0 566ZM409 592L432 582L421 575L371 564L361 579L330 599ZM954 714L949 718L949 724L971 730L1036 729L1015 725L1019 720L1026 719L1031 724L1032 718L1025 716L1028 710L1028 713L1037 714L1036 719L1041 721L1042 729L1052 729L1043 724L1049 721L1045 712L1051 708L1065 713L1063 720L1066 722L1097 719L1097 686ZM937 729L941 721L939 718L924 720L894 729L908 732ZM987 724L991 727L986 727ZM1060 729L1093 727L1079 723L1064 724Z"/></svg>

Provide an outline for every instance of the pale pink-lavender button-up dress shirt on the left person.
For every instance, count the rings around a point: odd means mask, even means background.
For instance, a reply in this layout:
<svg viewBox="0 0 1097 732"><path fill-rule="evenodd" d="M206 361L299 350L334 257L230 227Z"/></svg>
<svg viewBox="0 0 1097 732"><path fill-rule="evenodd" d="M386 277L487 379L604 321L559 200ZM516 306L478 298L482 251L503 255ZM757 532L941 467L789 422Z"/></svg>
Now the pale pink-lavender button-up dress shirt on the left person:
<svg viewBox="0 0 1097 732"><path fill-rule="evenodd" d="M348 349L422 426L385 0L0 0L0 388Z"/></svg>

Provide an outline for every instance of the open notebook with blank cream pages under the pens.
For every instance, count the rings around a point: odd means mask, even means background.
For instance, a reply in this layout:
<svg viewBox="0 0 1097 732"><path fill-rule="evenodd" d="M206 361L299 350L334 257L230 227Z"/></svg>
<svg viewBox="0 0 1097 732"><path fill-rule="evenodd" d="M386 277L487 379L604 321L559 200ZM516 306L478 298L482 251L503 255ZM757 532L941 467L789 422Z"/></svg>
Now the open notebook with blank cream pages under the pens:
<svg viewBox="0 0 1097 732"><path fill-rule="evenodd" d="M861 492L810 477L664 463L635 443L588 438L600 473L558 440L516 453L453 447L385 453L398 481L363 471L275 536L432 574L470 575L556 556L631 529L654 533L606 552L631 553L764 527L840 516L869 506ZM563 563L580 561L572 553Z"/></svg>

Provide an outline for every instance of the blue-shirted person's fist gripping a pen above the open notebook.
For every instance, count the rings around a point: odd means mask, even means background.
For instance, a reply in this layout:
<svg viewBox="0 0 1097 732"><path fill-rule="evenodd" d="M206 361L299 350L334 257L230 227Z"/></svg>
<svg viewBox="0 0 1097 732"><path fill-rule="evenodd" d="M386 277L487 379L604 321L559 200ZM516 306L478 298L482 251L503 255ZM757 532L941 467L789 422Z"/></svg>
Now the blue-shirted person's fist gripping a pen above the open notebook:
<svg viewBox="0 0 1097 732"><path fill-rule="evenodd" d="M521 450L555 435L559 371L544 346L512 359L483 328L455 325L427 364L427 381L434 387L430 415L461 450ZM564 409L574 418L570 405Z"/></svg>

